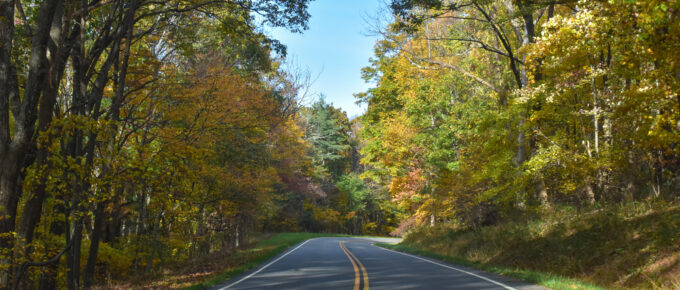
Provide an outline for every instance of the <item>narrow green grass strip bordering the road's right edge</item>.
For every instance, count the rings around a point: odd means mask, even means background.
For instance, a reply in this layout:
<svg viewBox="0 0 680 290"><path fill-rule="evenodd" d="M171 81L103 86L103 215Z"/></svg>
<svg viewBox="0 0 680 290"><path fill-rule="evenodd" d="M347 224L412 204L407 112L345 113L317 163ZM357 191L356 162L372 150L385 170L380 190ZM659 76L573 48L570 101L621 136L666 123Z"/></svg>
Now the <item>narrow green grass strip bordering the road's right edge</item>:
<svg viewBox="0 0 680 290"><path fill-rule="evenodd" d="M549 273L541 273L541 272L536 272L536 271L530 271L530 270L523 270L523 269L517 269L517 268L507 268L507 267L500 267L500 266L494 266L494 265L489 265L489 264L484 264L484 263L479 263L479 262L474 262L470 260L466 260L463 258L459 257L454 257L454 256L447 256L447 255L442 255L438 254L435 252L419 249L413 246L408 246L408 245L403 245L403 244L385 244L385 243L376 243L375 245L386 248L386 249L391 249L395 251L400 251L400 252L405 252L405 253L411 253L411 254L416 254L424 257L429 257L429 258L434 258L437 260L449 262L452 264L456 265L461 265L461 266L466 266L470 268L475 268L479 270L484 270L487 272L491 273L496 273L499 275L507 276L507 277L513 277L516 279L520 279L523 281L527 282L532 282L539 284L541 286L545 286L551 289L604 289L600 286L593 285L593 284L588 284L584 283L582 281L578 281L575 279L570 279L570 278L565 278L557 275L552 275Z"/></svg>

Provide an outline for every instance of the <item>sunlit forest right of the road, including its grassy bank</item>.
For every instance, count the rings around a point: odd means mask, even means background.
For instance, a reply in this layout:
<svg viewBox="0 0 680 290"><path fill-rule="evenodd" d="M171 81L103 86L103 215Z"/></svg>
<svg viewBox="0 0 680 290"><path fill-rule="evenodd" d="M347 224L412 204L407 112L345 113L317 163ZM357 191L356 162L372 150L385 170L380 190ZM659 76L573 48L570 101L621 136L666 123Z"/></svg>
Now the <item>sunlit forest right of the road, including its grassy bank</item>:
<svg viewBox="0 0 680 290"><path fill-rule="evenodd" d="M388 7L362 72L375 86L357 95L360 153L408 245L680 287L678 1Z"/></svg>

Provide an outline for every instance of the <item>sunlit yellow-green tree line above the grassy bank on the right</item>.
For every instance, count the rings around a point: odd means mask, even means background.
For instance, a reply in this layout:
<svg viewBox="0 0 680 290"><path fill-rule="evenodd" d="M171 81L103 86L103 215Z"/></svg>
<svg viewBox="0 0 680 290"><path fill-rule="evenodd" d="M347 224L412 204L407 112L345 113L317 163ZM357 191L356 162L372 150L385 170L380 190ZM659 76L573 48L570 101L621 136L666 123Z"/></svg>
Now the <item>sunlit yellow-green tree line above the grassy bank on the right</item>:
<svg viewBox="0 0 680 290"><path fill-rule="evenodd" d="M361 153L402 232L677 199L676 1L388 4Z"/></svg>

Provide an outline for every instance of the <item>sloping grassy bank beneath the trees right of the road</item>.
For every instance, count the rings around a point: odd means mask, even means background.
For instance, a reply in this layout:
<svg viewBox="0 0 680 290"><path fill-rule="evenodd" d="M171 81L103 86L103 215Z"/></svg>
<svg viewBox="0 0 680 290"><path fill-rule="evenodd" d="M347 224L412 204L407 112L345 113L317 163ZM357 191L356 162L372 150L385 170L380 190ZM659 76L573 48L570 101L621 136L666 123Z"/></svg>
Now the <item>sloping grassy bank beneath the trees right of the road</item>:
<svg viewBox="0 0 680 290"><path fill-rule="evenodd" d="M680 288L678 205L560 208L518 220L478 229L421 228L391 248L557 289Z"/></svg>

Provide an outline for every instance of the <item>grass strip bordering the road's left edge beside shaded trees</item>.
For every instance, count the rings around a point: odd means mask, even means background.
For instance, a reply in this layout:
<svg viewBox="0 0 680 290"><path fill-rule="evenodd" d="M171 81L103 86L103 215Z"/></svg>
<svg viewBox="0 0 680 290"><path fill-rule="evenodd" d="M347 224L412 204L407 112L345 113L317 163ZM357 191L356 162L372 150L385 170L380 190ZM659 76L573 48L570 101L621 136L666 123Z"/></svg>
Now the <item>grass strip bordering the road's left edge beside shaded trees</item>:
<svg viewBox="0 0 680 290"><path fill-rule="evenodd" d="M202 282L190 285L187 290L206 289L218 285L227 279L238 276L243 272L273 258L274 256L286 251L290 247L303 241L320 237L349 237L341 234L319 234L319 233L280 233L271 238L258 242L254 247L239 250L223 261L224 265L229 265L224 270L207 277Z"/></svg>

